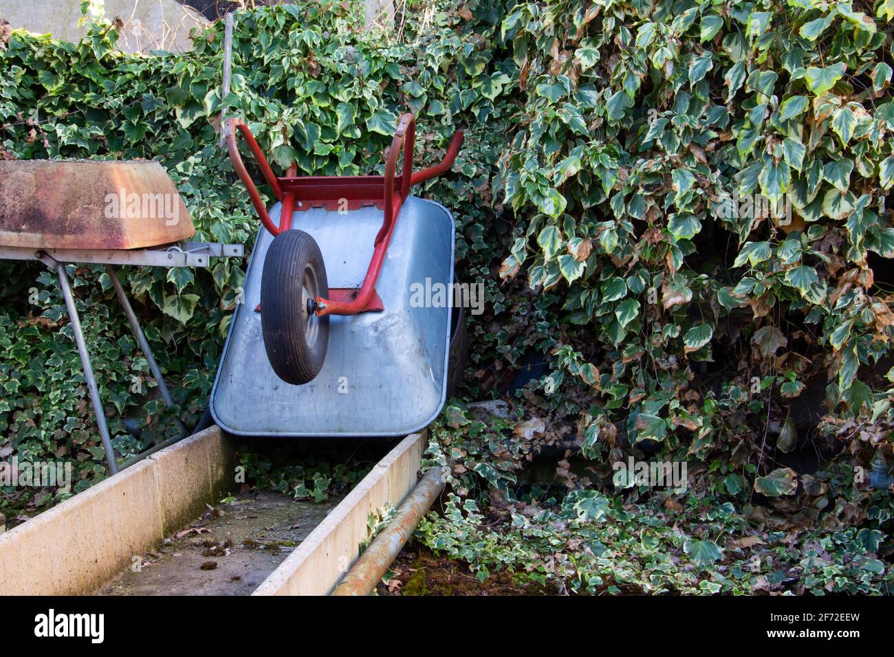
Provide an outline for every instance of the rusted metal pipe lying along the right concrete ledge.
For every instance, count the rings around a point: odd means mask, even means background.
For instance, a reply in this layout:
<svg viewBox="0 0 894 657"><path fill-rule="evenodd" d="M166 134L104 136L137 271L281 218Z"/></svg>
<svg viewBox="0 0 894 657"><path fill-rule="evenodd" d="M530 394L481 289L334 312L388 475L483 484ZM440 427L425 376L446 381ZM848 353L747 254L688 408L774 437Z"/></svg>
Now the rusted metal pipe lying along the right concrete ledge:
<svg viewBox="0 0 894 657"><path fill-rule="evenodd" d="M444 488L443 468L433 467L419 480L401 503L391 523L375 537L366 552L354 563L333 595L368 595L388 571L398 552L407 543L419 520L432 508Z"/></svg>

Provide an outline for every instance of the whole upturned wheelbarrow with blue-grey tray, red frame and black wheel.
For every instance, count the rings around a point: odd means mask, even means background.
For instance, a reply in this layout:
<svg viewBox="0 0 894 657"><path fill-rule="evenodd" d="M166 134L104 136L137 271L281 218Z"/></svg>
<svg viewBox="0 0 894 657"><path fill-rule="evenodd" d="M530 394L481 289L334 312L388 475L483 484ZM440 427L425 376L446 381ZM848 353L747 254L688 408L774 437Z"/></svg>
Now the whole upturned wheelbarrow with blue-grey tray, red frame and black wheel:
<svg viewBox="0 0 894 657"><path fill-rule="evenodd" d="M428 425L446 397L451 304L420 304L413 291L452 290L454 223L409 190L450 170L462 133L441 164L414 173L415 121L403 114L384 175L334 177L298 177L296 164L278 177L244 122L225 134L262 226L211 393L217 424L308 437ZM269 212L239 135L278 199Z"/></svg>

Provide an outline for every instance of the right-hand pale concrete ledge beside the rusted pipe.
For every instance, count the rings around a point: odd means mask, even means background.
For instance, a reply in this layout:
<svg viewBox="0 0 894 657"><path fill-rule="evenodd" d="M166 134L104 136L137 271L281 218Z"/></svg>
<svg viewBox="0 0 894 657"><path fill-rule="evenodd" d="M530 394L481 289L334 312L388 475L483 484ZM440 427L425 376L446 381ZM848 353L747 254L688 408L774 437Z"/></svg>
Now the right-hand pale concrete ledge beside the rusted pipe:
<svg viewBox="0 0 894 657"><path fill-rule="evenodd" d="M427 432L404 438L348 493L252 595L327 595L359 556L367 518L397 507L417 483Z"/></svg>

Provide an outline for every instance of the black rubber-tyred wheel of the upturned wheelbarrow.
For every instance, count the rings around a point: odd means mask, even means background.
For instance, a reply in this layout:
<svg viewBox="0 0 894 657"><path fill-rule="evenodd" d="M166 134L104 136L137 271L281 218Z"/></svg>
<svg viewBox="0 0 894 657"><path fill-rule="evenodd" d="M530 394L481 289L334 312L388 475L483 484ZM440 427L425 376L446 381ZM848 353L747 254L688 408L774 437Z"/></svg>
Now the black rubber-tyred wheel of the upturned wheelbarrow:
<svg viewBox="0 0 894 657"><path fill-rule="evenodd" d="M329 346L329 316L316 316L316 297L329 295L323 254L303 231L277 235L261 275L261 333L274 372L300 385L320 373Z"/></svg>

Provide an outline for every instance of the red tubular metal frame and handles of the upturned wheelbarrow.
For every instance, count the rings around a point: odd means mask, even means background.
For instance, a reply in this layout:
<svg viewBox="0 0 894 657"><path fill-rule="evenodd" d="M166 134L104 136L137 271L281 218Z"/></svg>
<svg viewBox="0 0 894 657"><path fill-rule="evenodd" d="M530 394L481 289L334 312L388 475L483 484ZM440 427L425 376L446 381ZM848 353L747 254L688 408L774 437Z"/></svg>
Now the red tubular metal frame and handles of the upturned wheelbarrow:
<svg viewBox="0 0 894 657"><path fill-rule="evenodd" d="M248 144L261 173L274 195L283 203L280 225L274 224L264 200L251 180L237 145L237 130ZM391 240L398 214L403 202L409 197L409 188L419 182L450 171L453 161L460 152L463 133L453 135L450 146L441 164L435 164L421 171L413 172L413 145L416 139L416 119L412 114L402 114L394 132L392 145L388 150L384 176L296 176L297 164L292 164L287 175L279 178L267 164L264 152L249 131L249 126L239 119L231 119L226 126L226 145L233 168L240 181L249 191L251 203L267 231L274 236L291 229L294 212L311 207L325 207L330 210L356 210L362 206L377 206L384 210L382 228L375 235L373 257L367 268L367 275L356 290L330 290L329 299L316 298L316 315L357 315L358 313L382 310L382 300L375 292L375 281L382 269L388 242ZM403 171L397 178L397 161L403 147Z"/></svg>

